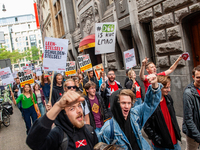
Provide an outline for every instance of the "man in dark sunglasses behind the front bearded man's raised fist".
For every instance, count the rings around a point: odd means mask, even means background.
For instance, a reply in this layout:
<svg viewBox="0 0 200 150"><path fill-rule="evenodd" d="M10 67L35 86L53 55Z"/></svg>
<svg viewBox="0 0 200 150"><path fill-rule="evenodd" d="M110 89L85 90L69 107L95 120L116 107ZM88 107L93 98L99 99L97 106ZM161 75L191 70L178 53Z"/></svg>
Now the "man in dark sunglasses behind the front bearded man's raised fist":
<svg viewBox="0 0 200 150"><path fill-rule="evenodd" d="M76 91L76 88L77 88L73 79L66 80L63 86L64 86L65 92L67 92L68 90ZM83 114L85 115L85 117L84 117L85 123L90 124L90 118L89 118L90 110L88 108L88 105L85 102L85 106L83 107L82 103L81 103L81 106L82 106L82 109L83 109Z"/></svg>

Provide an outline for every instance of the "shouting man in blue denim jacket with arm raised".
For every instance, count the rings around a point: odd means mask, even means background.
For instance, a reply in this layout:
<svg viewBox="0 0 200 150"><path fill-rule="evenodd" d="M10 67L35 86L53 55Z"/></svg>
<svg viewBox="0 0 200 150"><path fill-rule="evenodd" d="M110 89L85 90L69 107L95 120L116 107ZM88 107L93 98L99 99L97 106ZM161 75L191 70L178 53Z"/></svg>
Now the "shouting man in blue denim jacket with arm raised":
<svg viewBox="0 0 200 150"><path fill-rule="evenodd" d="M161 99L162 84L157 82L154 74L148 75L149 86L144 103L131 108L136 98L130 89L114 92L111 111L113 117L105 122L99 132L99 141L119 145L126 150L150 150L148 142L143 138L141 129L157 108Z"/></svg>

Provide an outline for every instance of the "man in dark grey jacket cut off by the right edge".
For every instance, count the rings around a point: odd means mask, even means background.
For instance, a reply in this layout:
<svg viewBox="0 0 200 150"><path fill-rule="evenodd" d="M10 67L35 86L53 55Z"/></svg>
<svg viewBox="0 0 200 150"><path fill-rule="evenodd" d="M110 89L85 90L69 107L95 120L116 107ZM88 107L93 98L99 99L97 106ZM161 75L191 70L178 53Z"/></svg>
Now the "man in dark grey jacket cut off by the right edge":
<svg viewBox="0 0 200 150"><path fill-rule="evenodd" d="M200 65L192 70L193 82L183 93L183 133L186 150L197 150L200 144Z"/></svg>

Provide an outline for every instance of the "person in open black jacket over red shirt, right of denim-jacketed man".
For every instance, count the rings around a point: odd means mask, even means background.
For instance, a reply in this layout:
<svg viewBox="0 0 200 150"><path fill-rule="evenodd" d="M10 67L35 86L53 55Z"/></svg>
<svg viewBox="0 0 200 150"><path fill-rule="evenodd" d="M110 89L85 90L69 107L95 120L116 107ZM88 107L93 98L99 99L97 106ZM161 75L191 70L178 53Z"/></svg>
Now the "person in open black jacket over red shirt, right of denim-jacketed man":
<svg viewBox="0 0 200 150"><path fill-rule="evenodd" d="M154 150L181 150L178 140L181 140L180 129L176 120L173 99L169 95L169 76L157 76L158 82L163 84L162 98L153 115L144 126L148 138L152 140Z"/></svg>

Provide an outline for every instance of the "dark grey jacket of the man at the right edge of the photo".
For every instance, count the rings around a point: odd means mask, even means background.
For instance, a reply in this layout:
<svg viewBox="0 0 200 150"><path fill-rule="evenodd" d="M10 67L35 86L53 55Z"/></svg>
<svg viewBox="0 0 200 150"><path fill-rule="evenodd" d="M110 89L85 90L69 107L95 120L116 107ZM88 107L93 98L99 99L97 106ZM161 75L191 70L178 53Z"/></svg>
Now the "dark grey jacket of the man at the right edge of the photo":
<svg viewBox="0 0 200 150"><path fill-rule="evenodd" d="M200 95L194 82L183 93L183 113L183 133L200 143Z"/></svg>

